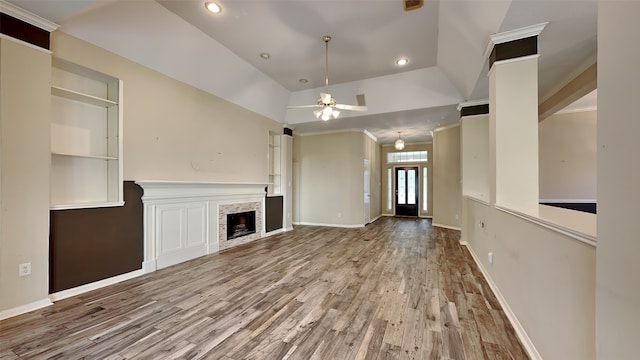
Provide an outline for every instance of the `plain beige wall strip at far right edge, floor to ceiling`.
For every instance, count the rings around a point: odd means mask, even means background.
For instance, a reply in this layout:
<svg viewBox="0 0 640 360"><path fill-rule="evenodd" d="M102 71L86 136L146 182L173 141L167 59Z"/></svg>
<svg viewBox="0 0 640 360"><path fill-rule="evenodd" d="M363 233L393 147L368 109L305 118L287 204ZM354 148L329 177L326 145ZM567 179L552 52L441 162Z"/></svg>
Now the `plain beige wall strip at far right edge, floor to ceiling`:
<svg viewBox="0 0 640 360"><path fill-rule="evenodd" d="M640 339L640 2L598 1L598 359Z"/></svg>

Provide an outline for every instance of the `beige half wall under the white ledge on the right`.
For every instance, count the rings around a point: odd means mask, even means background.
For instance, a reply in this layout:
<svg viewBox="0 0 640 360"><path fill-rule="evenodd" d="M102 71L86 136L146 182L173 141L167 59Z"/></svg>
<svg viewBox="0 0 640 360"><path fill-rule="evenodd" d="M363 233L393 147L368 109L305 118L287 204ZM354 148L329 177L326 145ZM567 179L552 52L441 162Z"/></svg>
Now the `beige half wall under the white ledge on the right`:
<svg viewBox="0 0 640 360"><path fill-rule="evenodd" d="M469 248L541 358L594 359L595 247L490 205L465 206Z"/></svg>

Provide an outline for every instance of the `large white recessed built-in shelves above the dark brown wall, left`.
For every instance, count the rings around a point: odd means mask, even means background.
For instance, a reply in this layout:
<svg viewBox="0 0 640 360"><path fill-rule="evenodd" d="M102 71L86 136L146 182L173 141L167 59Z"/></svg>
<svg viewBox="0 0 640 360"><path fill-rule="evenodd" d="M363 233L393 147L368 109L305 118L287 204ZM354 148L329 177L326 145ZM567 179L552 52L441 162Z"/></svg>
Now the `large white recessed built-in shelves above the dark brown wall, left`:
<svg viewBox="0 0 640 360"><path fill-rule="evenodd" d="M51 208L122 204L122 81L54 58Z"/></svg>

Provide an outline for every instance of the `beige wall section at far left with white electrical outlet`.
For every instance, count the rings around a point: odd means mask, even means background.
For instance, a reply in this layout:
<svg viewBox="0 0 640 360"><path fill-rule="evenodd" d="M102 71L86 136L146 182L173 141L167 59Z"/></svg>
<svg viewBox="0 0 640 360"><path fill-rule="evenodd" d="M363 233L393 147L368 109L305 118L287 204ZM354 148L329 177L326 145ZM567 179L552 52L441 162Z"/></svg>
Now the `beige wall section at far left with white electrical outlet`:
<svg viewBox="0 0 640 360"><path fill-rule="evenodd" d="M48 303L50 77L51 55L0 38L0 312Z"/></svg>

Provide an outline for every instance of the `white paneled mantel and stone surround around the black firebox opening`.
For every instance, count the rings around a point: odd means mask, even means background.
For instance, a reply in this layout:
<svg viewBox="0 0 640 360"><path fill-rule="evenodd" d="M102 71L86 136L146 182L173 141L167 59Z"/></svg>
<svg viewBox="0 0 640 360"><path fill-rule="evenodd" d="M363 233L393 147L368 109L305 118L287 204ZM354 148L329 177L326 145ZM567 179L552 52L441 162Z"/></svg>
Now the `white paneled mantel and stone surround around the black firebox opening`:
<svg viewBox="0 0 640 360"><path fill-rule="evenodd" d="M265 236L264 183L136 183L144 189L144 272ZM227 214L244 211L256 212L256 232L227 241Z"/></svg>

